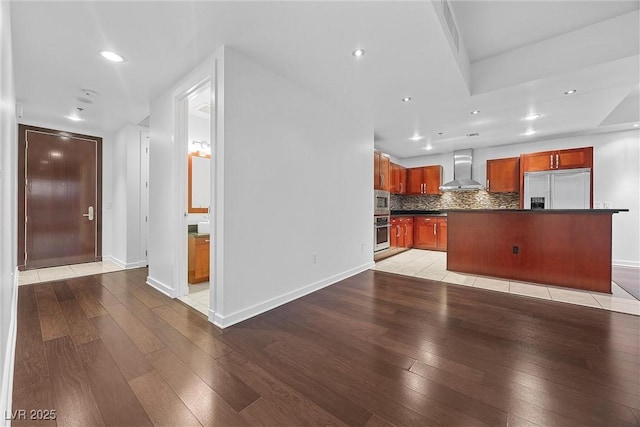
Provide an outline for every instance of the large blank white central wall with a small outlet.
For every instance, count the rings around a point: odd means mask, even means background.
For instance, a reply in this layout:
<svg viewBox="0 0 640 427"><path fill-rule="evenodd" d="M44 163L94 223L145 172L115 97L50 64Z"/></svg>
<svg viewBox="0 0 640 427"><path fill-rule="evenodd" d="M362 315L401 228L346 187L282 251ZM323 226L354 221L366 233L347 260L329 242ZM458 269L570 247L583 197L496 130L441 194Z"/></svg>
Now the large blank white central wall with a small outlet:
<svg viewBox="0 0 640 427"><path fill-rule="evenodd" d="M227 326L372 265L373 127L228 47L218 96Z"/></svg>

